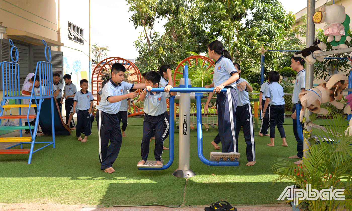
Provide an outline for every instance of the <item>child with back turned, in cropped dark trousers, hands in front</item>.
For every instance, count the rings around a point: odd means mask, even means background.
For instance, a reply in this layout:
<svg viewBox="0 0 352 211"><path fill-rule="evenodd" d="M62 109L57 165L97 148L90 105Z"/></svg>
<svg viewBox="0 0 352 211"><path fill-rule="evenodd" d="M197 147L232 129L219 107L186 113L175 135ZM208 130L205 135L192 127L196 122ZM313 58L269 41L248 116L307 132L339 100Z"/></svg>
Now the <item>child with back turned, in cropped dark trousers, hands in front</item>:
<svg viewBox="0 0 352 211"><path fill-rule="evenodd" d="M265 111L269 107L269 128L270 128L270 143L268 146L274 147L275 138L275 125L279 130L282 138L282 146L287 146L285 130L282 124L285 119L285 100L284 100L284 89L278 83L280 75L277 71L270 71L268 74L269 85L264 91L265 105L263 108L263 117L265 117Z"/></svg>

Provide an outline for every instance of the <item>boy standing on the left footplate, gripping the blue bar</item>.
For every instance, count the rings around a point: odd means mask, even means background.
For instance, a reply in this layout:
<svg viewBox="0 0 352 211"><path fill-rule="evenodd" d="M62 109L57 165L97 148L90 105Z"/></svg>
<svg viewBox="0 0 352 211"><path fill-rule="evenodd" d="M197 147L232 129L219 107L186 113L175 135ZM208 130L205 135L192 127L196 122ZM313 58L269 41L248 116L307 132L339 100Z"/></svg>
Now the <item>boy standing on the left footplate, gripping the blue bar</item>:
<svg viewBox="0 0 352 211"><path fill-rule="evenodd" d="M144 165L149 154L149 140L151 133L155 135L154 156L156 165L162 165L161 154L163 153L163 128L166 111L166 98L170 95L176 95L177 92L170 92L171 86L166 86L164 92L151 92L152 88L159 88L161 76L156 71L150 71L145 76L146 89L143 90L139 100L144 100L144 121L143 121L143 139L140 145L142 160L137 165Z"/></svg>

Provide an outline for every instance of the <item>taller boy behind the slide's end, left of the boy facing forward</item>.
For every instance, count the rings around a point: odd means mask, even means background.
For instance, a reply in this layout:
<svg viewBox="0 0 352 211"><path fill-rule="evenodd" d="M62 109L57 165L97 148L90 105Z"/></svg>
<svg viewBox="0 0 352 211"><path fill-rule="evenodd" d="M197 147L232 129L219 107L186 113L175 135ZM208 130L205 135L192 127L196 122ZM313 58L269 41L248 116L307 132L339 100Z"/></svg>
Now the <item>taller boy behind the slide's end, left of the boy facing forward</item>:
<svg viewBox="0 0 352 211"><path fill-rule="evenodd" d="M68 124L68 120L70 118L70 112L73 107L73 98L77 92L76 85L71 82L71 75L66 74L64 75L65 80L65 88L64 88L64 95L62 97L62 101L65 99L65 110L66 110L66 124ZM75 129L76 125L73 119L70 122L70 128Z"/></svg>

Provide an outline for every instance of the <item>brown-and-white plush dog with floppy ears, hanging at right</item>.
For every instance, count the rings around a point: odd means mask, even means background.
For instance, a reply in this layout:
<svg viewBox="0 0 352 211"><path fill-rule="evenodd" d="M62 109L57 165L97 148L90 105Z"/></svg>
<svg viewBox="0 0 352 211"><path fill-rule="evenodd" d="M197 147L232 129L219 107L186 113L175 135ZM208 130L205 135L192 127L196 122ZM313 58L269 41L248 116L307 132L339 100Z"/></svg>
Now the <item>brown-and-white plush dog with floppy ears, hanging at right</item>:
<svg viewBox="0 0 352 211"><path fill-rule="evenodd" d="M328 110L320 108L322 103L329 102L338 109L344 108L344 103L337 102L342 99L342 91L348 86L347 76L339 73L329 76L323 83L315 88L301 92L298 95L302 103L300 121L303 120L306 108L316 114L328 114Z"/></svg>

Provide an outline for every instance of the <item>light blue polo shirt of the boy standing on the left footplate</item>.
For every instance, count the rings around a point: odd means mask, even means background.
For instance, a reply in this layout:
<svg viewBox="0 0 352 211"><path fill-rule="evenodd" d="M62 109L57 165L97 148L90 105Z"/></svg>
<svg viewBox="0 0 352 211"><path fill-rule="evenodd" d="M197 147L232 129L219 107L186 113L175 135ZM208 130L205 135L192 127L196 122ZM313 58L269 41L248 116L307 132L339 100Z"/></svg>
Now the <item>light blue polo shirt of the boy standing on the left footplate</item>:
<svg viewBox="0 0 352 211"><path fill-rule="evenodd" d="M160 88L160 86L158 86ZM166 111L166 98L170 97L170 92L157 91L153 94L151 91L146 91L144 98L143 111L151 116L158 116Z"/></svg>

